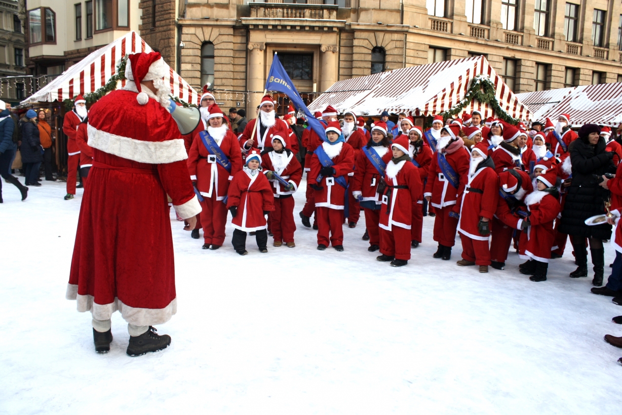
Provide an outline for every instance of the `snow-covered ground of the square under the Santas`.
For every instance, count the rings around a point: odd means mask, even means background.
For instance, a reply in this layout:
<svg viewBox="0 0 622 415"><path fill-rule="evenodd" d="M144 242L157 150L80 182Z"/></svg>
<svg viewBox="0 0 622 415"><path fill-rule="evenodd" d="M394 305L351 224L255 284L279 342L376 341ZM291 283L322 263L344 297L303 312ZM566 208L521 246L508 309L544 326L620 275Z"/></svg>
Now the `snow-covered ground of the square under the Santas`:
<svg viewBox="0 0 622 415"><path fill-rule="evenodd" d="M21 178L23 180L23 178ZM113 317L95 353L91 316L65 299L81 190L6 183L0 204L0 413L619 414L622 308L573 280L570 250L533 283L511 253L504 271L432 258L434 219L407 267L376 262L345 227L345 252L202 250L172 217L179 310L158 326L162 352L128 357ZM303 188L303 186L301 186ZM304 194L296 196L297 215ZM299 221L297 221L299 222ZM141 232L137 224L137 232ZM148 249L148 247L146 247ZM607 245L606 263L613 260ZM592 271L590 270L590 273ZM608 272L608 269L606 270Z"/></svg>

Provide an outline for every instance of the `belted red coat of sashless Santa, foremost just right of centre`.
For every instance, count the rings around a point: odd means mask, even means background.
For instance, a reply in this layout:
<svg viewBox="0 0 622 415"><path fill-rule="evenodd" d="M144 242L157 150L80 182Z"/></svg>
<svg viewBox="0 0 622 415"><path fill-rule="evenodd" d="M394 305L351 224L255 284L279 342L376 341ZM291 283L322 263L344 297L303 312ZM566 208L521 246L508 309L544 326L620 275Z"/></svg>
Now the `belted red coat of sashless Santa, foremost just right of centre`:
<svg viewBox="0 0 622 415"><path fill-rule="evenodd" d="M404 229L412 227L412 206L417 203L423 192L419 169L407 160L387 164L384 181L383 203L380 206L379 227L392 230L393 226ZM395 189L389 186L408 186L407 189Z"/></svg>

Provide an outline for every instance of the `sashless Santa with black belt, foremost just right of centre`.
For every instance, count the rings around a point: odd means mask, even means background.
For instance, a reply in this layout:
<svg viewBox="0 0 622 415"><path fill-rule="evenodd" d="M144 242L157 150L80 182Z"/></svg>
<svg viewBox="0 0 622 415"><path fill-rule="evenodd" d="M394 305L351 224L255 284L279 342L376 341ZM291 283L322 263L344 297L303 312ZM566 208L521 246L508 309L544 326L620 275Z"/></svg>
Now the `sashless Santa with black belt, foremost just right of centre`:
<svg viewBox="0 0 622 415"><path fill-rule="evenodd" d="M380 207L380 255L376 260L402 267L411 259L412 206L421 197L419 169L408 155L406 135L391 143L393 157L384 175L386 186Z"/></svg>

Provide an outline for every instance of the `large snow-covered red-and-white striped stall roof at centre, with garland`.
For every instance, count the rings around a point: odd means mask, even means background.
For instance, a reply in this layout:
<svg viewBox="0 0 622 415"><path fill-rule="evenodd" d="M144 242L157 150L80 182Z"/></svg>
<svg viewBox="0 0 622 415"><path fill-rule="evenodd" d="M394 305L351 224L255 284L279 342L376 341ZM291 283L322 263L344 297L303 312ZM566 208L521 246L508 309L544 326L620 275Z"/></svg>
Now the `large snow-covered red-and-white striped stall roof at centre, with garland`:
<svg viewBox="0 0 622 415"><path fill-rule="evenodd" d="M309 106L310 111L322 111L332 105L338 112L352 109L356 114L378 116L411 112L413 115L434 116L455 107L464 98L476 76L490 78L496 87L499 106L509 116L527 121L529 109L503 82L485 57L473 57L429 65L409 66L351 80L338 81ZM494 117L486 103L474 100L464 109L480 110L485 117Z"/></svg>

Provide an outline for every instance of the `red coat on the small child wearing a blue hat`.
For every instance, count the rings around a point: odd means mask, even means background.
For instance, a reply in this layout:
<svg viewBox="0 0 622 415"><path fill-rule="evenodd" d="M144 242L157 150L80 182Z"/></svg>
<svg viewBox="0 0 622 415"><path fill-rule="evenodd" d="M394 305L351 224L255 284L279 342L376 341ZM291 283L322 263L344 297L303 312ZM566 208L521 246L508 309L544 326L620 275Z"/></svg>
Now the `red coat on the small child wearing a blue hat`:
<svg viewBox="0 0 622 415"><path fill-rule="evenodd" d="M248 167L238 171L229 186L227 209L238 207L238 214L231 221L231 226L244 232L266 229L264 211L274 211L272 186L261 170L252 176Z"/></svg>

